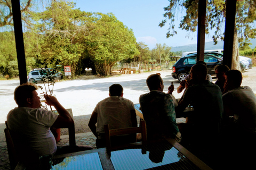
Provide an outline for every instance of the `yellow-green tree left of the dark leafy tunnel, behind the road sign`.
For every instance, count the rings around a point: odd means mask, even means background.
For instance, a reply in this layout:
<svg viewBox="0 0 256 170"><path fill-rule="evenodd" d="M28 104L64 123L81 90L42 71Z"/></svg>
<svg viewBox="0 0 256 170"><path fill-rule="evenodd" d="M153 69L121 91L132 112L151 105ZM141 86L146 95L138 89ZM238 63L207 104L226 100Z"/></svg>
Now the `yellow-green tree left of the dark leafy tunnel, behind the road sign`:
<svg viewBox="0 0 256 170"><path fill-rule="evenodd" d="M82 41L87 35L87 19L90 13L73 9L73 2L52 2L44 12L38 13L36 25L41 37L39 60L70 65L73 74L77 74L79 58L84 52ZM54 65L55 66L55 65ZM79 74L79 73L78 73Z"/></svg>

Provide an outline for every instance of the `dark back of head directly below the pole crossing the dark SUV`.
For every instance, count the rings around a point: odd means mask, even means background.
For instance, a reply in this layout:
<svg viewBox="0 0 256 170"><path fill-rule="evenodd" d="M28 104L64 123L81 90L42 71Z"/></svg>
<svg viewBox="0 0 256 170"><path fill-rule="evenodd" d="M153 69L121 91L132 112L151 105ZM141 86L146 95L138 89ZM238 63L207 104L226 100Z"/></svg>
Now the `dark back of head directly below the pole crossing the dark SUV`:
<svg viewBox="0 0 256 170"><path fill-rule="evenodd" d="M190 77L193 81L204 81L207 76L207 67L204 64L195 64L191 67Z"/></svg>

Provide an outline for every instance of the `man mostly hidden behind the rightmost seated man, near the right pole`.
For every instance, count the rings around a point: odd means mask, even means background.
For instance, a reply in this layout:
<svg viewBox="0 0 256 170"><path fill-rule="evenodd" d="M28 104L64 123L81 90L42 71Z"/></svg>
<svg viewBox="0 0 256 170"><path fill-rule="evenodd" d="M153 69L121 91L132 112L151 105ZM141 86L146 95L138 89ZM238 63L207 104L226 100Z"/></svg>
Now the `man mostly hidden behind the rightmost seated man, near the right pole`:
<svg viewBox="0 0 256 170"><path fill-rule="evenodd" d="M217 77L217 81L215 82L216 85L218 85L220 87L221 92L224 91L224 84L225 84L225 73L229 71L229 67L227 65L217 65L215 67L215 73L216 73L216 77Z"/></svg>

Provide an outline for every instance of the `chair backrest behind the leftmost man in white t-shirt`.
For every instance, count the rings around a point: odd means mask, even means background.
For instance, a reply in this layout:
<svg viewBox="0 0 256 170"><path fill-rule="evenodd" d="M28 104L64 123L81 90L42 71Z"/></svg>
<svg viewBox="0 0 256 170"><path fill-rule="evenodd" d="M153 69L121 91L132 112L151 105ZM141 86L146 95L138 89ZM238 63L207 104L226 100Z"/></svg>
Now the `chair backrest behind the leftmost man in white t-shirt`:
<svg viewBox="0 0 256 170"><path fill-rule="evenodd" d="M14 147L11 133L8 129L7 121L5 121L5 125L6 125L6 128L4 129L4 133L5 133L6 145L7 145L7 150L8 150L9 160L10 160L10 166L11 166L11 169L15 169L15 167L19 162L19 158L17 155L17 151L15 150L15 147Z"/></svg>

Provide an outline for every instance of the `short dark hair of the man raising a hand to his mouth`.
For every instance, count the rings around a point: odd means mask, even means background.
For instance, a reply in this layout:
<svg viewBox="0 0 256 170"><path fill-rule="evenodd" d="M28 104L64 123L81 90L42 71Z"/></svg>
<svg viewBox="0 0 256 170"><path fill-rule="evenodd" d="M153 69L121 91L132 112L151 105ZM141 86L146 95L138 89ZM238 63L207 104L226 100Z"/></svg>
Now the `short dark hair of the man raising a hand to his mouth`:
<svg viewBox="0 0 256 170"><path fill-rule="evenodd" d="M27 103L27 98L33 98L33 91L38 87L33 83L23 83L14 90L14 100L18 106Z"/></svg>

